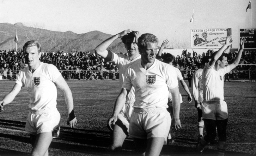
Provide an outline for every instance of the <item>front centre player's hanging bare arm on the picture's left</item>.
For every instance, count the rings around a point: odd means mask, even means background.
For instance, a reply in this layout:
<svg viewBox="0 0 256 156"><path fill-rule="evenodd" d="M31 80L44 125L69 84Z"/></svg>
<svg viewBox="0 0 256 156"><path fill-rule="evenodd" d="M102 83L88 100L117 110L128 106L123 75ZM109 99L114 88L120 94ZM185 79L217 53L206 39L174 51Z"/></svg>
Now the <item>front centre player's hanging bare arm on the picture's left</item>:
<svg viewBox="0 0 256 156"><path fill-rule="evenodd" d="M126 101L126 96L129 94L129 92L130 92L130 90L122 88L120 94L117 96L112 117L109 118L109 120L108 120L108 128L110 130L113 130L112 125L115 125L115 123L117 121L117 115L123 108L124 103Z"/></svg>

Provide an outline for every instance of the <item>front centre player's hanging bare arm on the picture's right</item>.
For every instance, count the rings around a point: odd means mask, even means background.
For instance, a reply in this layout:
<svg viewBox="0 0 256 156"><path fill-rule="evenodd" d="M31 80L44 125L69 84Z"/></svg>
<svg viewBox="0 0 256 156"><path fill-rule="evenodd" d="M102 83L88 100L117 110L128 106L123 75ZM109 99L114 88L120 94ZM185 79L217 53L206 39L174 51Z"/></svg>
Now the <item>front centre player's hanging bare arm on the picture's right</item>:
<svg viewBox="0 0 256 156"><path fill-rule="evenodd" d="M178 130L181 128L181 121L179 120L179 110L181 108L180 97L179 97L179 87L170 89L172 95L172 107L173 107L173 116L171 122L171 128Z"/></svg>

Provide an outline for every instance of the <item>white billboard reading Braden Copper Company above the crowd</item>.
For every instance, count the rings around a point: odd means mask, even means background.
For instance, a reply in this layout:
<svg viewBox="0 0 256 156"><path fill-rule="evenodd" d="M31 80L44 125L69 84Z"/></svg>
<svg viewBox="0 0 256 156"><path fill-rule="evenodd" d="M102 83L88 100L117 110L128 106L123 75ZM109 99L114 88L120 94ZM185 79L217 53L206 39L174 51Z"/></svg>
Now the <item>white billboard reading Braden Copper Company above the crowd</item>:
<svg viewBox="0 0 256 156"><path fill-rule="evenodd" d="M191 29L191 49L221 48L231 28Z"/></svg>

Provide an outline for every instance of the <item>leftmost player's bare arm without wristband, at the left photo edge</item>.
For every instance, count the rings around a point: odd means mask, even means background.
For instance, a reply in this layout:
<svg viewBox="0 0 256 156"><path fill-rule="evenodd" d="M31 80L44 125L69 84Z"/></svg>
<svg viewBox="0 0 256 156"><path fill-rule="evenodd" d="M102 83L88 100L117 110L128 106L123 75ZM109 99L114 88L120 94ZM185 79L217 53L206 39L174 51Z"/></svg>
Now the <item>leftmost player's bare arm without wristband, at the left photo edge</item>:
<svg viewBox="0 0 256 156"><path fill-rule="evenodd" d="M21 88L22 88L22 86L20 86L19 84L17 84L17 83L14 84L10 93L5 95L5 97L2 99L2 101L0 101L0 111L4 111L3 107L6 104L11 103L13 101L13 99L16 97L16 95L18 95Z"/></svg>

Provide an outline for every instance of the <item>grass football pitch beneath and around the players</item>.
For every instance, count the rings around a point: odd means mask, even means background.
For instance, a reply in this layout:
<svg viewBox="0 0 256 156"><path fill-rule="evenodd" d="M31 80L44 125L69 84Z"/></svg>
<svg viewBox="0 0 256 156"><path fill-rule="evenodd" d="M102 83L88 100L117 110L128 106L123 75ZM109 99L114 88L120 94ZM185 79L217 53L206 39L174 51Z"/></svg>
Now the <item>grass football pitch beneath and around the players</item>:
<svg viewBox="0 0 256 156"><path fill-rule="evenodd" d="M231 80L232 81L232 80ZM0 81L0 100L11 91L14 81ZM119 82L115 81L67 81L72 90L74 111L78 124L70 129L66 124L67 108L64 94L58 88L57 109L61 114L61 131L49 148L51 156L98 156L134 155L132 138L127 137L123 150L110 153L109 130L106 123L111 117L119 94ZM164 145L161 155L197 155L195 149L197 132L197 110L194 102L186 101L187 95L181 85L183 97L180 119L182 128L172 133L175 142ZM192 93L192 88L189 87ZM225 82L224 97L228 105L226 155L256 154L256 83ZM22 88L14 101L0 113L0 156L29 155L32 146L29 134L24 131L28 115L29 97ZM204 155L216 153L217 144L209 144Z"/></svg>

